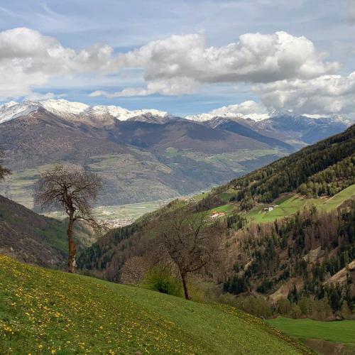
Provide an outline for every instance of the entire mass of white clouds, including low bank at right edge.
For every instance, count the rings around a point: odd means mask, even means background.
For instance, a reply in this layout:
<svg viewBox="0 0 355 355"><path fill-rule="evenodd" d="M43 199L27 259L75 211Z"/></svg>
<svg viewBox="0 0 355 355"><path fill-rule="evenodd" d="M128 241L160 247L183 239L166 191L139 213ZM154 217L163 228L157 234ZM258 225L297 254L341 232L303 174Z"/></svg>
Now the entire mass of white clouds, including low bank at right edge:
<svg viewBox="0 0 355 355"><path fill-rule="evenodd" d="M55 95L33 90L53 77L116 74L130 68L143 71L145 87L95 91L90 96L180 95L209 84L246 82L254 85L262 104L247 101L219 110L239 114L263 114L265 107L308 114L355 111L355 74L334 75L339 63L327 62L326 55L303 36L246 33L236 43L208 47L203 35L172 35L114 55L104 44L81 50L66 48L56 38L30 28L0 32L0 99L50 98Z"/></svg>

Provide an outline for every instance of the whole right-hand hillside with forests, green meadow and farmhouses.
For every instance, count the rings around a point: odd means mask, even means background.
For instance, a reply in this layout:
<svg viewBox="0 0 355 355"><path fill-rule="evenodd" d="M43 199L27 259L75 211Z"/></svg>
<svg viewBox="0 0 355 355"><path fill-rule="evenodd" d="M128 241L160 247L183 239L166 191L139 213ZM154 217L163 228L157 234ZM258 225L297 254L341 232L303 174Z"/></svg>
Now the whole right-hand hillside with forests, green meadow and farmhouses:
<svg viewBox="0 0 355 355"><path fill-rule="evenodd" d="M262 315L260 305L253 302L266 297L264 315L278 312L325 319L341 311L351 314L354 131L352 126L209 194L176 200L131 226L114 229L82 253L80 268L118 282L124 280L127 268L144 273L142 257L150 258L147 251L155 243L151 231L157 221L171 209L196 216L209 213L211 223L219 224L223 255L219 268L203 269L200 277L223 293L238 295L238 302L244 302L246 294L255 296L249 297L247 307L240 303L239 307ZM277 302L286 305L279 309ZM318 303L313 307L312 302ZM311 314L312 307L320 311Z"/></svg>

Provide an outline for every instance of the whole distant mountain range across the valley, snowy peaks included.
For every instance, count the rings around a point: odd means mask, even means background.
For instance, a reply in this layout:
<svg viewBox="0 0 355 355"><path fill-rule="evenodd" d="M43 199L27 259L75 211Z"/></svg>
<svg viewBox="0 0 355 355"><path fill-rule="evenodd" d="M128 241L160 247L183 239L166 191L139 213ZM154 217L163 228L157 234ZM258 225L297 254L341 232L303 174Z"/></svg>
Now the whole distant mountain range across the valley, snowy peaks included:
<svg viewBox="0 0 355 355"><path fill-rule="evenodd" d="M0 150L13 170L0 193L33 208L38 173L62 162L104 179L99 204L166 200L205 190L349 126L339 117L274 112L181 118L64 99L0 106Z"/></svg>

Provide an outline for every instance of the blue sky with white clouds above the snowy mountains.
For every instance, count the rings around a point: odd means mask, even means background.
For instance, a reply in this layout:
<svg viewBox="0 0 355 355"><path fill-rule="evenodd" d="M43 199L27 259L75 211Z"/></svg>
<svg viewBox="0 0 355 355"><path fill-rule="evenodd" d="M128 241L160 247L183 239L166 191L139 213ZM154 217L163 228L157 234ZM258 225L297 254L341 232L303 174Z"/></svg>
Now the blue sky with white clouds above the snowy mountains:
<svg viewBox="0 0 355 355"><path fill-rule="evenodd" d="M355 0L0 0L0 103L355 118Z"/></svg>

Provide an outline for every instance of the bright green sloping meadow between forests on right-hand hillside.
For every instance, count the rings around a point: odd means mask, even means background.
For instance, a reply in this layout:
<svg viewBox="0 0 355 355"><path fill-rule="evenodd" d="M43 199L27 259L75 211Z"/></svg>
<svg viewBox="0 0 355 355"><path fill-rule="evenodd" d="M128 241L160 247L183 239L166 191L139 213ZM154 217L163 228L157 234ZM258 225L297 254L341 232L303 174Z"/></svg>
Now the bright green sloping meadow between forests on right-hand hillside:
<svg viewBox="0 0 355 355"><path fill-rule="evenodd" d="M295 214L297 211L306 205L314 204L317 209L329 212L332 209L339 207L344 201L355 196L355 185L351 185L333 197L320 197L306 199L300 195L286 195L272 204L278 204L271 212L263 212L263 208L267 205L258 205L254 207L247 217L253 219L254 222L272 222L275 219Z"/></svg>

